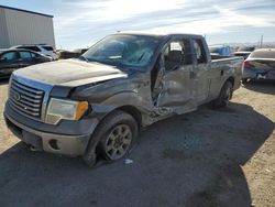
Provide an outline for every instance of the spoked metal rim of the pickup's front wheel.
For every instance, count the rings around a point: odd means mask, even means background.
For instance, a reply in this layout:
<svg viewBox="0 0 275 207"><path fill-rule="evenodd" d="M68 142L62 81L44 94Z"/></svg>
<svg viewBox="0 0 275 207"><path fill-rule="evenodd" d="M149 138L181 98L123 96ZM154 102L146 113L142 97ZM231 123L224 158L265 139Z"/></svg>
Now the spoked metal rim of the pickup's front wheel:
<svg viewBox="0 0 275 207"><path fill-rule="evenodd" d="M111 160L122 157L132 142L132 130L127 124L119 124L112 129L106 140L106 154Z"/></svg>

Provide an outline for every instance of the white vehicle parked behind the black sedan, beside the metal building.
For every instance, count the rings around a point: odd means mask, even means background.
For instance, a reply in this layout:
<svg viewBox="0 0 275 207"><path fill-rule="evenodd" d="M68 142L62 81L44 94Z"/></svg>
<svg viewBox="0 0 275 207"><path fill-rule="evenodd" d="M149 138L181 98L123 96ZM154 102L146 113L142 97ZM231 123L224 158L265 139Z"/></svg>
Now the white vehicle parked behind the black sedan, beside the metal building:
<svg viewBox="0 0 275 207"><path fill-rule="evenodd" d="M24 45L12 46L11 48L25 48L50 56L53 58L53 61L57 59L57 54L55 50L53 48L53 46L47 44L24 44Z"/></svg>

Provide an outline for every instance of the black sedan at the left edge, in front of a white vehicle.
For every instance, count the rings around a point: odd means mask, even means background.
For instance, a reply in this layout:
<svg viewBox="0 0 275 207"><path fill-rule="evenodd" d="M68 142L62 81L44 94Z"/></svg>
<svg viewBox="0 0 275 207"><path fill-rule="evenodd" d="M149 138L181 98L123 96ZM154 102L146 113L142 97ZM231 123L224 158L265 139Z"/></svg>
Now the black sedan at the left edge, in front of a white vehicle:
<svg viewBox="0 0 275 207"><path fill-rule="evenodd" d="M15 69L51 62L52 57L28 50L1 50L0 51L0 78L9 77Z"/></svg>

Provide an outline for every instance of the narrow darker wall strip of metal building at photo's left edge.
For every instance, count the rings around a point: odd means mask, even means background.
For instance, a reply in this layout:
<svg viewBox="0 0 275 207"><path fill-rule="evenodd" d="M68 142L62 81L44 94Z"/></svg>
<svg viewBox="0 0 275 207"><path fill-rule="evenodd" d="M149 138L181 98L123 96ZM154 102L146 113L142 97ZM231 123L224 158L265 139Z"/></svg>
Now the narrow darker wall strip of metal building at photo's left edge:
<svg viewBox="0 0 275 207"><path fill-rule="evenodd" d="M0 48L10 47L4 9L0 8Z"/></svg>

